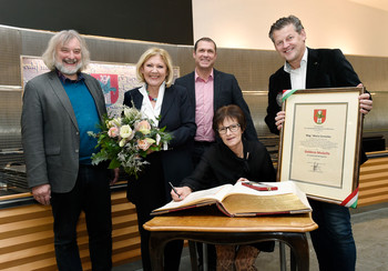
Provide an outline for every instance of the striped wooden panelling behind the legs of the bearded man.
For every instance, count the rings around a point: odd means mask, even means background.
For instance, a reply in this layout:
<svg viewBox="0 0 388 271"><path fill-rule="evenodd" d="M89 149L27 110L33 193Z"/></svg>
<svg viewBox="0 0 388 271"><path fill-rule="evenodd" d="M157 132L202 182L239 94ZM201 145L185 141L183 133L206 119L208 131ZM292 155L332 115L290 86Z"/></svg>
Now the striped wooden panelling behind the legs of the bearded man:
<svg viewBox="0 0 388 271"><path fill-rule="evenodd" d="M38 203L2 209L0 270L57 270L52 222L51 208ZM140 260L136 211L125 191L112 192L112 224L113 265ZM83 270L91 270L83 213L76 231Z"/></svg>

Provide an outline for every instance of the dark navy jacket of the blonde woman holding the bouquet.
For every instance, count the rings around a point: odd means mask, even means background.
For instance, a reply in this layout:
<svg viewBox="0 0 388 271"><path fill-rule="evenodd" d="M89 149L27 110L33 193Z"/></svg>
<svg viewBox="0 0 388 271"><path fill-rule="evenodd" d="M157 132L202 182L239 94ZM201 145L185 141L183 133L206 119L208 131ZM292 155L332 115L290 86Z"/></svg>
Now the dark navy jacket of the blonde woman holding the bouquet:
<svg viewBox="0 0 388 271"><path fill-rule="evenodd" d="M136 88L125 93L124 104L132 107L133 101L135 108L140 110L143 99L144 97ZM184 88L171 86L165 89L159 127L166 127L165 131L172 133L173 140L169 143L167 151L147 155L146 160L150 164L140 172L139 180L134 178L129 180L127 198L133 203L145 200L150 189L160 188L165 191L166 200L171 200L169 182L177 185L193 171L192 158L187 149L194 142L196 126L193 106ZM159 167L162 167L162 170ZM162 172L164 183L154 183L160 179ZM162 203L165 204L167 201L164 203L162 201Z"/></svg>

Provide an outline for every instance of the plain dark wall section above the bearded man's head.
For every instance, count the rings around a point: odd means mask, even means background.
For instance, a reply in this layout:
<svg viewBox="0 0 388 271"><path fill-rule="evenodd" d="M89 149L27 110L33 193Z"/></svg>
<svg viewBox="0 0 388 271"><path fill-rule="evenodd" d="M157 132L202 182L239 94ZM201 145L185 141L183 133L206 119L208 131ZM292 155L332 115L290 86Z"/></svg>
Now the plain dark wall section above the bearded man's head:
<svg viewBox="0 0 388 271"><path fill-rule="evenodd" d="M0 24L193 44L192 0L0 0Z"/></svg>

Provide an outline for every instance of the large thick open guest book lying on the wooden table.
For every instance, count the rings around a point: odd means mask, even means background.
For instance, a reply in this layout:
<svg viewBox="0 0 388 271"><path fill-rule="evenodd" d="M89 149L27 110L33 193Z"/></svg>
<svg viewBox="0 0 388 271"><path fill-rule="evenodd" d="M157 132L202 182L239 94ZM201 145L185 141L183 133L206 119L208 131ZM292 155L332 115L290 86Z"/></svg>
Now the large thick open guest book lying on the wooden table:
<svg viewBox="0 0 388 271"><path fill-rule="evenodd" d="M163 214L191 208L216 204L228 217L256 217L312 211L306 194L293 181L237 182L188 194L182 201L155 209L151 214Z"/></svg>

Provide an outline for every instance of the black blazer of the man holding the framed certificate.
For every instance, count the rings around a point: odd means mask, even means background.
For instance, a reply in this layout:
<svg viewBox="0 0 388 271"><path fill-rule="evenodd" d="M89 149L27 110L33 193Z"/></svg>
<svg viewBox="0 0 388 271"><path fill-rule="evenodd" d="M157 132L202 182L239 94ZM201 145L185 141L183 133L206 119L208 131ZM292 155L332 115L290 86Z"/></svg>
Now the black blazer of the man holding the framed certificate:
<svg viewBox="0 0 388 271"><path fill-rule="evenodd" d="M306 89L356 87L361 81L353 69L350 62L339 49L310 49L307 48ZM269 78L268 107L265 122L270 132L279 134L275 124L275 117L282 110L279 98L283 90L290 89L289 73L284 67ZM361 162L367 158L361 151Z"/></svg>

